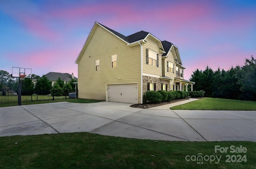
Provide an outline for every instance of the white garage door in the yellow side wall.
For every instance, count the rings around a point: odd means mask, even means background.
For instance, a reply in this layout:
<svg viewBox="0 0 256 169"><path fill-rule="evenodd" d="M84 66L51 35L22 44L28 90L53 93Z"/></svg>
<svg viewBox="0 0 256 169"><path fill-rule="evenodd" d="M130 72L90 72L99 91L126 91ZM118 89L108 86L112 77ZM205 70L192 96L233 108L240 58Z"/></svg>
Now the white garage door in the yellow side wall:
<svg viewBox="0 0 256 169"><path fill-rule="evenodd" d="M108 85L108 101L121 103L138 103L137 84L113 84Z"/></svg>

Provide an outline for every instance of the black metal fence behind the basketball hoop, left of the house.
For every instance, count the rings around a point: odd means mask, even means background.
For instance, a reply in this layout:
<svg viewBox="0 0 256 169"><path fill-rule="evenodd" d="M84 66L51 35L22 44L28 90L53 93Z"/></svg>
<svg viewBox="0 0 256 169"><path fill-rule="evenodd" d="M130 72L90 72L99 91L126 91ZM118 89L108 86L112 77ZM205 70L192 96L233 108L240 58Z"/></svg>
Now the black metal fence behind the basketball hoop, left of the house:
<svg viewBox="0 0 256 169"><path fill-rule="evenodd" d="M46 101L76 98L76 91L51 89L44 91L24 91L21 93L21 101ZM18 92L15 90L0 89L1 103L18 103Z"/></svg>

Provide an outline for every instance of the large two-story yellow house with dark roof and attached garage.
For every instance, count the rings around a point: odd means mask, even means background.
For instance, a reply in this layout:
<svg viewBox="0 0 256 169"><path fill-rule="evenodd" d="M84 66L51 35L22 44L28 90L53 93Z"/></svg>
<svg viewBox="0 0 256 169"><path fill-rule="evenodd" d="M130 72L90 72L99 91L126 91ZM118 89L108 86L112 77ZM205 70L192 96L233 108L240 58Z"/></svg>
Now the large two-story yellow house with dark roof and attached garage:
<svg viewBox="0 0 256 169"><path fill-rule="evenodd" d="M97 22L76 64L80 98L143 103L148 90L187 90L194 84L183 79L185 68L172 43L144 31L124 36Z"/></svg>

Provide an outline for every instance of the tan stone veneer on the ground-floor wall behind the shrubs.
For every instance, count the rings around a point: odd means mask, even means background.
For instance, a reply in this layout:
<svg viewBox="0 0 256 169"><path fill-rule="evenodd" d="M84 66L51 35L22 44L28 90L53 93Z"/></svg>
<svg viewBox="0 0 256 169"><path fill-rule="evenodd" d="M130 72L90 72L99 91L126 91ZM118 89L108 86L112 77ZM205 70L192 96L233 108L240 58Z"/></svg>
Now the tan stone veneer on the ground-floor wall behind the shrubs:
<svg viewBox="0 0 256 169"><path fill-rule="evenodd" d="M160 78L155 78L151 76L142 76L142 94L143 94L143 102L146 102L144 94L148 91L148 82L156 84L156 91L161 90L161 84L168 84L167 91L170 90L170 80L162 80Z"/></svg>

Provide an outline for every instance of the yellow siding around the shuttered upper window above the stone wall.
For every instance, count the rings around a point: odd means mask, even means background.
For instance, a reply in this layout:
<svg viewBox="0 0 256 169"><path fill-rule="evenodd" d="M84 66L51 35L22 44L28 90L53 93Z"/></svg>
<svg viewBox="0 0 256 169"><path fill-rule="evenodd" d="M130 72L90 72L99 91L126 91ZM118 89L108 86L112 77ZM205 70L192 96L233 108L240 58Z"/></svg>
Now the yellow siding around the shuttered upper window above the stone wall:
<svg viewBox="0 0 256 169"><path fill-rule="evenodd" d="M148 37L145 40L147 43L143 45L143 73L144 74L152 74L152 75L157 75L157 76L162 76L162 59L161 59L161 54L159 51L159 46L158 43L153 40L152 38ZM159 67L157 67L156 65L148 65L146 64L146 49L148 50L152 50L156 53L158 53L158 57L159 57Z"/></svg>

